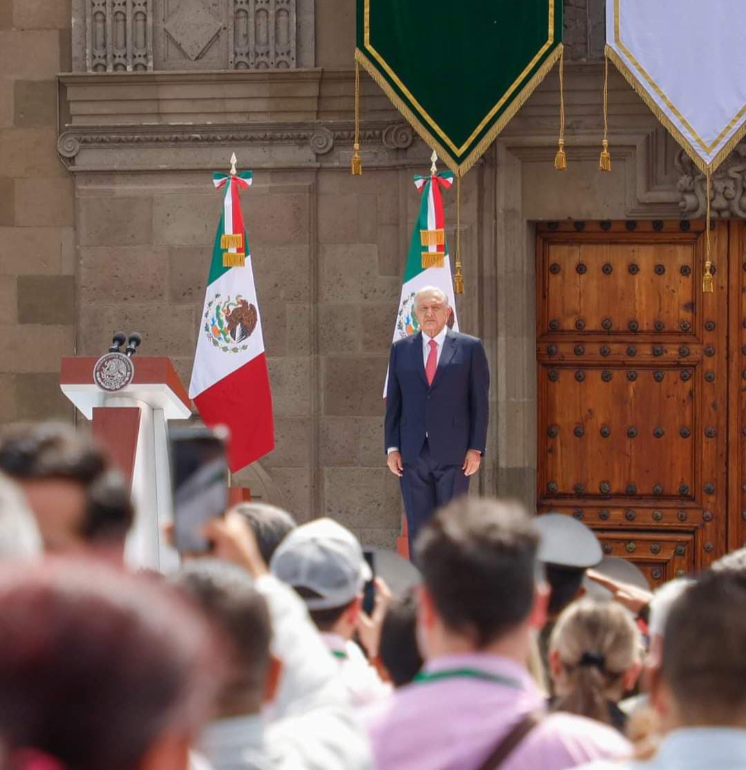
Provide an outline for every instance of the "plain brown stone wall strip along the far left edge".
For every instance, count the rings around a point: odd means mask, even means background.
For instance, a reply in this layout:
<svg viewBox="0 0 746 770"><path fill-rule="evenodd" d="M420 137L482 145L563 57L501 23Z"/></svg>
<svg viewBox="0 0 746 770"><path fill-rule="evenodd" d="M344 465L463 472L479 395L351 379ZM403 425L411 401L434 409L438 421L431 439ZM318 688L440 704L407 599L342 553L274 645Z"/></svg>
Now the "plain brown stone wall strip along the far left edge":
<svg viewBox="0 0 746 770"><path fill-rule="evenodd" d="M0 0L0 423L72 418L73 183L55 150L69 68L69 0Z"/></svg>

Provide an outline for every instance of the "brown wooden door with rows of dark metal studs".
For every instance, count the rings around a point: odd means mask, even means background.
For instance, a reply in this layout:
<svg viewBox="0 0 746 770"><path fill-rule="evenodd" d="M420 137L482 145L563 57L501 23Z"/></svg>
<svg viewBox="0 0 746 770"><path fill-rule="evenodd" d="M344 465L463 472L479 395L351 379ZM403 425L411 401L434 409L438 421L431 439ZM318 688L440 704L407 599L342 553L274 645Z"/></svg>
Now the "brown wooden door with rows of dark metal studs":
<svg viewBox="0 0 746 770"><path fill-rule="evenodd" d="M704 294L701 223L537 228L539 511L594 527L651 584L727 550L728 224L711 236Z"/></svg>

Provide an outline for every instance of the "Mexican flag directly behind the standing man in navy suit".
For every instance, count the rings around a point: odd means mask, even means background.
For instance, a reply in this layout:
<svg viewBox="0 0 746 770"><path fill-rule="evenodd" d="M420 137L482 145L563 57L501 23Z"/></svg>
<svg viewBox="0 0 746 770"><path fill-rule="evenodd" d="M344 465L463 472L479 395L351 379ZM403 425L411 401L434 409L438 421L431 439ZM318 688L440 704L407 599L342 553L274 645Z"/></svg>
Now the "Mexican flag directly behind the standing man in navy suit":
<svg viewBox="0 0 746 770"><path fill-rule="evenodd" d="M414 314L414 295L423 286L437 286L448 297L451 314L448 326L459 330L456 317L456 300L453 296L453 279L450 273L450 255L446 243L446 217L443 213L443 190L453 185L453 172L441 171L430 176L415 176L414 184L422 195L420 214L414 223L410 251L404 266L402 293L399 300L399 313L393 330L393 342L402 337L416 334L420 330ZM389 375L386 372L386 384Z"/></svg>

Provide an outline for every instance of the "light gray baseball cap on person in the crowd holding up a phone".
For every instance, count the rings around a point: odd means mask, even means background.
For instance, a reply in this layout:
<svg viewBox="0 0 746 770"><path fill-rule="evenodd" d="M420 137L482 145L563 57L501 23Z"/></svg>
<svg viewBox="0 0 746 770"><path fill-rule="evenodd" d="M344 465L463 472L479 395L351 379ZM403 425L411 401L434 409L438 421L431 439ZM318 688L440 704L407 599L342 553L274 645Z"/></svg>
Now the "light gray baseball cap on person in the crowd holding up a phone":
<svg viewBox="0 0 746 770"><path fill-rule="evenodd" d="M372 577L355 535L330 518L316 519L290 532L275 551L269 569L293 588L319 597L303 598L309 610L343 607Z"/></svg>

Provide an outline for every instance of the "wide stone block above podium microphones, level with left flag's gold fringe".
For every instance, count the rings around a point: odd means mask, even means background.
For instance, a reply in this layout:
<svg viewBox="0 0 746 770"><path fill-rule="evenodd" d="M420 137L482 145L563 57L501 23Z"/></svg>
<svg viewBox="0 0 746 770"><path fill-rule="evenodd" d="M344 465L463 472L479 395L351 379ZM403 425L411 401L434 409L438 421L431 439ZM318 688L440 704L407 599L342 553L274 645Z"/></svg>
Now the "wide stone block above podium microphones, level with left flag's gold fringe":
<svg viewBox="0 0 746 770"><path fill-rule="evenodd" d="M163 300L168 264L163 247L85 246L80 249L80 303Z"/></svg>

